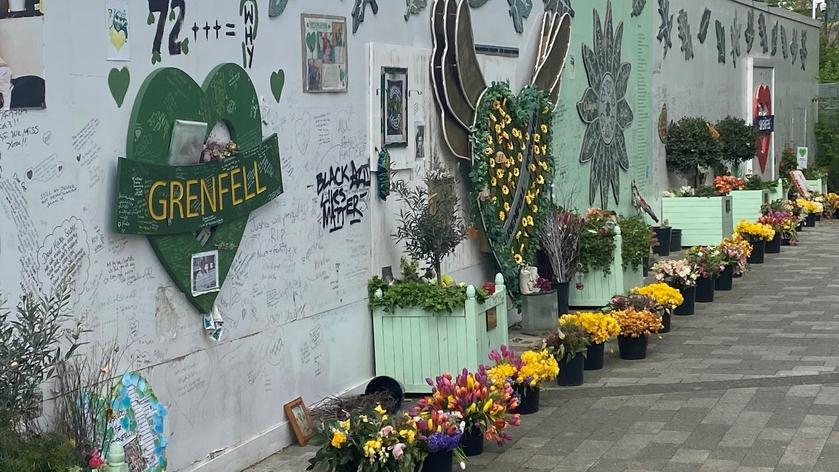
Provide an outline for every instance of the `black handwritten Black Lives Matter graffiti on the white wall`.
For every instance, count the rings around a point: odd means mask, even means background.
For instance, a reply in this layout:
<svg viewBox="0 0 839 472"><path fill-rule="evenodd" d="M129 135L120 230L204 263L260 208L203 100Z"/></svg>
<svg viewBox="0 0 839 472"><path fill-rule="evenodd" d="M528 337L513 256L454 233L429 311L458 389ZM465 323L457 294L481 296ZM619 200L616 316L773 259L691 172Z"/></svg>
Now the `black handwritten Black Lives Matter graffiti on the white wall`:
<svg viewBox="0 0 839 472"><path fill-rule="evenodd" d="M355 161L331 166L317 174L321 224L329 232L362 222L363 207L370 193L370 164L357 166Z"/></svg>

